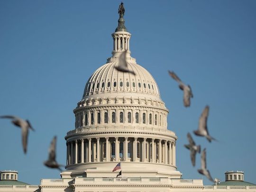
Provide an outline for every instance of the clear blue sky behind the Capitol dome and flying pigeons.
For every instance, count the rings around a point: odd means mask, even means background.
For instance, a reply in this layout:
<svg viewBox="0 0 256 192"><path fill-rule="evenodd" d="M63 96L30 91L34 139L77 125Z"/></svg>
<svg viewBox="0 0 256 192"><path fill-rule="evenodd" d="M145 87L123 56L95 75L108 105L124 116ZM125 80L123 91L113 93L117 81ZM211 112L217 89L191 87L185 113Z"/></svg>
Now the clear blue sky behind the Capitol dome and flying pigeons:
<svg viewBox="0 0 256 192"><path fill-rule="evenodd" d="M192 167L187 132L198 127L210 105L209 133L219 142L193 138L207 149L212 177L243 170L256 183L256 1L127 0L130 50L158 83L169 109L168 129L178 136L176 164L186 179L204 179ZM74 129L73 109L91 74L111 56L119 0L0 0L0 115L31 121L27 155L20 130L0 119L0 170L14 169L19 180L40 184L59 178L44 167L57 135L57 160L65 164L65 134ZM194 98L183 107L183 93L167 70L191 85Z"/></svg>

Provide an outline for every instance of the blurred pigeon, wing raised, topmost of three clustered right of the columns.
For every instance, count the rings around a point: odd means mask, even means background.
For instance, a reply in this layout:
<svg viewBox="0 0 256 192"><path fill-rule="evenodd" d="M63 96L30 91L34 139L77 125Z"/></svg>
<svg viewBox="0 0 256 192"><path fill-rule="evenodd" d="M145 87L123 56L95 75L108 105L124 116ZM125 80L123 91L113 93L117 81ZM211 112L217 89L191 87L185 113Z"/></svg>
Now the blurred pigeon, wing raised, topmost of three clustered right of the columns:
<svg viewBox="0 0 256 192"><path fill-rule="evenodd" d="M201 117L199 118L199 125L198 125L198 129L194 131L194 134L197 136L203 136L206 137L206 139L211 142L211 140L215 140L213 137L211 137L208 133L208 129L207 129L207 117L209 115L209 110L210 107L207 105L205 106L205 108L203 109L203 112L201 114Z"/></svg>

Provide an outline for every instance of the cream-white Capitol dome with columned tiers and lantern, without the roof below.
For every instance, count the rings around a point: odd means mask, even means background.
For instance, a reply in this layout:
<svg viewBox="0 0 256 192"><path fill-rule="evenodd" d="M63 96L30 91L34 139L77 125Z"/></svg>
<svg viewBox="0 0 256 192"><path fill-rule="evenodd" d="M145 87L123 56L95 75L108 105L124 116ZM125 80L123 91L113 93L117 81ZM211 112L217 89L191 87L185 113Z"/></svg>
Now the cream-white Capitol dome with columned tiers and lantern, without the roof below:
<svg viewBox="0 0 256 192"><path fill-rule="evenodd" d="M177 137L167 129L168 109L155 79L130 55L130 37L119 14L112 57L87 81L82 100L73 110L75 129L65 136L65 177L115 177L121 162L122 176L181 178L177 171ZM126 51L128 70L118 71Z"/></svg>

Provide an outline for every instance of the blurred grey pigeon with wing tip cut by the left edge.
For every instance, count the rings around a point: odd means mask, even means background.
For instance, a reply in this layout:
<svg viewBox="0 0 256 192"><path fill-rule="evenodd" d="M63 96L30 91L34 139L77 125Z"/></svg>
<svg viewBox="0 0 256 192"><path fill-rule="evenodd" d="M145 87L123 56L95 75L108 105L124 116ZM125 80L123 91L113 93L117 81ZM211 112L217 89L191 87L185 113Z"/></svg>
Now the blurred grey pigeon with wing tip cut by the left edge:
<svg viewBox="0 0 256 192"><path fill-rule="evenodd" d="M21 119L19 117L15 117L15 116L11 116L11 115L7 115L7 116L0 116L0 118L9 118L12 119L12 123L18 127L21 128L21 136L22 136L22 146L23 146L23 151L26 154L27 153L27 137L28 137L28 130L31 129L33 131L35 131L35 129L33 129L33 127L31 126L31 124L29 123L28 120L24 120Z"/></svg>

